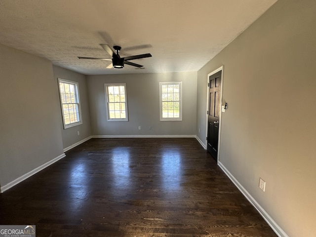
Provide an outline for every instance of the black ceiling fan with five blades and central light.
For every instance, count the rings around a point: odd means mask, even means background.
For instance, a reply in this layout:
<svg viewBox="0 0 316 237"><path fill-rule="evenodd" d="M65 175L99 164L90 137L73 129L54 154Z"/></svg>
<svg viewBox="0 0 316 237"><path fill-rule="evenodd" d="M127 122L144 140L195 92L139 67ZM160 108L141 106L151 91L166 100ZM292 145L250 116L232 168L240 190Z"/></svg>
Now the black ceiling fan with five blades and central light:
<svg viewBox="0 0 316 237"><path fill-rule="evenodd" d="M152 57L150 53L145 53L145 54L139 54L139 55L134 55L134 56L127 56L121 58L118 54L120 51L121 47L118 45L113 46L114 50L109 46L109 44L100 44L110 55L112 55L112 59L109 58L89 58L89 57L78 57L79 59L96 59L96 60L107 60L107 61L112 61L112 65L109 65L107 68L111 68L112 66L114 68L124 68L124 64L128 64L134 67L141 68L143 65L139 65L137 63L132 63L129 62L128 60L133 60L133 59L139 59L139 58L148 58Z"/></svg>

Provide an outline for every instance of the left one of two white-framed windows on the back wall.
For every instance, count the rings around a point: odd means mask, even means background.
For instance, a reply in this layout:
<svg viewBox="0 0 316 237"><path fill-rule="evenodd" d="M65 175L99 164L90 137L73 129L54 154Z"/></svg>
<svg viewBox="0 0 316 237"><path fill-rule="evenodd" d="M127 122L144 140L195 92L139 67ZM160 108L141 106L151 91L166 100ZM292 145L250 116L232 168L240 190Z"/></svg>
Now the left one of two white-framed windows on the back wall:
<svg viewBox="0 0 316 237"><path fill-rule="evenodd" d="M128 121L126 83L104 84L108 121Z"/></svg>

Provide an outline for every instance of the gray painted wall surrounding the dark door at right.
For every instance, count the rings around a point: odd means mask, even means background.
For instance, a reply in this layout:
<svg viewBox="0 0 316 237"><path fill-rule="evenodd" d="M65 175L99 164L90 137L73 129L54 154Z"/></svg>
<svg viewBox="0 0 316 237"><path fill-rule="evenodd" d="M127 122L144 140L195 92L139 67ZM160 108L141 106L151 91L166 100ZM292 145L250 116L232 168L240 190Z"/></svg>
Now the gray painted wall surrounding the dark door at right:
<svg viewBox="0 0 316 237"><path fill-rule="evenodd" d="M315 0L278 0L197 76L198 137L207 74L224 65L219 160L290 237L316 220L315 12Z"/></svg>

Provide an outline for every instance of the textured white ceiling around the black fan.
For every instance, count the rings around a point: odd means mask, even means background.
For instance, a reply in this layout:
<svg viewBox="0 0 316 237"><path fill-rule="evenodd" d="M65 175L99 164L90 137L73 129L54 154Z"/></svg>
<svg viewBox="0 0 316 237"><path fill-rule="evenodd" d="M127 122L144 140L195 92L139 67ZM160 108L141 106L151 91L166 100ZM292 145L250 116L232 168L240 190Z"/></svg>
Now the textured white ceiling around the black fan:
<svg viewBox="0 0 316 237"><path fill-rule="evenodd" d="M0 43L85 75L198 71L276 0L0 0ZM151 53L107 69L99 45L121 56Z"/></svg>

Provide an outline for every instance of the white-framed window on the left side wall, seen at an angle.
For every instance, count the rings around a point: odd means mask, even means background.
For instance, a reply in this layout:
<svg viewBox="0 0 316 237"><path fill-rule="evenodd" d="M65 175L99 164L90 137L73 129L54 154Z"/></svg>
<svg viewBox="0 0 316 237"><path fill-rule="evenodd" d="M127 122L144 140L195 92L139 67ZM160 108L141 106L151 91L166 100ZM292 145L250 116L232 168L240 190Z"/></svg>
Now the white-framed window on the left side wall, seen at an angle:
<svg viewBox="0 0 316 237"><path fill-rule="evenodd" d="M82 124L78 82L58 79L58 83L64 128Z"/></svg>

